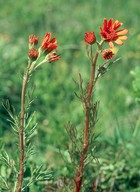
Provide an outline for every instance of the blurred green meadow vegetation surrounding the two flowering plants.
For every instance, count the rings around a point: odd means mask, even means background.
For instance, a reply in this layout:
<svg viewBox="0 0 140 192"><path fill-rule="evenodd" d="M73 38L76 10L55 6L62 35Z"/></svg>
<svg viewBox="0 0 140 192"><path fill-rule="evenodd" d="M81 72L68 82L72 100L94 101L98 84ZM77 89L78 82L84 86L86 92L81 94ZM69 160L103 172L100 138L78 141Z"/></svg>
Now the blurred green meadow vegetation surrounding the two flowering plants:
<svg viewBox="0 0 140 192"><path fill-rule="evenodd" d="M138 0L0 1L2 192L9 190L4 179L14 185L16 175L13 175L13 169L17 167L10 159L18 159L18 139L4 106L18 116L28 36L43 37L45 32L52 32L57 37L62 58L39 68L30 79L28 100L34 100L29 117L35 111L31 127L36 122L38 126L31 135L36 153L29 158L24 174L25 181L32 176L34 182L30 180L30 184L34 184L24 190L73 191L74 172L68 153L70 140L65 128L68 122L77 125L78 130L83 126L83 109L75 96L79 73L84 82L88 81L90 74L83 37L86 31L94 30L99 39L97 26L102 25L104 17L123 21L125 28L129 29L129 38L118 50L121 59L97 82L95 99L100 100L100 107L95 127L96 147L94 158L90 160L92 163L87 164L82 192L93 191L90 186L93 180L98 186L96 191L140 191L138 4ZM102 62L102 58L98 62ZM40 178L35 180L38 173Z"/></svg>

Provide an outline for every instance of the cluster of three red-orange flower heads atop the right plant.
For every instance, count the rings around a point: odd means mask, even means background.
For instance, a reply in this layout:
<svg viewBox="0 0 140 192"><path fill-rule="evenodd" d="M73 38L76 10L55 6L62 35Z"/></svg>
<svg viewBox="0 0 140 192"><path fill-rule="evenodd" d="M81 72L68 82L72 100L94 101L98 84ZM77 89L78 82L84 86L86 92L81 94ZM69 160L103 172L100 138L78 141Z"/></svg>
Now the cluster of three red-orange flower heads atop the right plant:
<svg viewBox="0 0 140 192"><path fill-rule="evenodd" d="M119 22L118 20L114 20L112 18L107 20L105 18L103 22L103 26L100 27L100 35L102 38L101 43L98 43L96 41L96 36L93 31L88 31L85 33L84 41L89 45L97 43L103 59L110 60L115 55L115 52L113 51L114 43L118 45L123 45L123 40L127 40L128 38L126 36L126 34L128 33L128 30L119 29L122 25L123 23ZM103 42L107 42L110 48L102 50L103 46L101 45L103 45Z"/></svg>

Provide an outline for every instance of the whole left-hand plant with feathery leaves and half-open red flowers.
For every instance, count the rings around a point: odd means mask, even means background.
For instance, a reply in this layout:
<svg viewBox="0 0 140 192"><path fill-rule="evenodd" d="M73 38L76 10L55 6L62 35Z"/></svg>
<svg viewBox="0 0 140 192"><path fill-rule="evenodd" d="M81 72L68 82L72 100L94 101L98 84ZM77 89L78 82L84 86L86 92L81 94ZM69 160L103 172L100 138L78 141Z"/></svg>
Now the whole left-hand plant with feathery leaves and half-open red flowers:
<svg viewBox="0 0 140 192"><path fill-rule="evenodd" d="M30 168L31 173L28 179L25 176L29 158L35 153L31 144L31 137L37 126L37 123L32 125L34 113L30 114L30 106L33 100L28 101L28 84L31 76L39 67L45 63L52 63L60 59L60 55L56 53L56 48L58 47L57 40L55 37L51 39L51 35L51 33L46 33L39 48L37 48L39 37L35 35L29 36L28 65L25 67L23 75L19 115L15 116L10 111L9 103L6 105L6 109L11 117L11 125L19 138L19 157L17 157L18 160L10 159L7 152L2 149L0 159L9 167L11 174L9 177L7 175L0 177L1 191L29 191L33 183L52 178L51 171L43 170L42 165ZM10 180L11 175L13 177L12 180Z"/></svg>

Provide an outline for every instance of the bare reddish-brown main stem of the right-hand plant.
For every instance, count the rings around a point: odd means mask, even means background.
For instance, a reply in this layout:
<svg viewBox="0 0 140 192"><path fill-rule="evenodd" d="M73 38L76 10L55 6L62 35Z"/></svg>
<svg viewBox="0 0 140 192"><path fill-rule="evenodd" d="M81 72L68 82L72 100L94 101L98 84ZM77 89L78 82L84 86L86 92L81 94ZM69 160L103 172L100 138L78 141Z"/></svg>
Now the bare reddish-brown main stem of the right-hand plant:
<svg viewBox="0 0 140 192"><path fill-rule="evenodd" d="M92 55L92 47L91 47L91 55ZM90 123L90 101L91 101L91 96L92 96L92 91L93 91L93 86L94 86L94 79L95 79L95 67L96 67L96 61L98 58L98 51L96 52L93 61L91 61L91 75L90 75L90 80L89 80L89 85L87 89L87 99L85 101L85 128L84 128L84 140L83 140L83 149L82 149L82 154L79 160L79 167L77 174L74 178L75 184L76 184L76 189L75 192L80 192L81 186L82 186L82 181L83 181L83 172L84 172L84 167L85 167L85 158L89 146L89 123Z"/></svg>

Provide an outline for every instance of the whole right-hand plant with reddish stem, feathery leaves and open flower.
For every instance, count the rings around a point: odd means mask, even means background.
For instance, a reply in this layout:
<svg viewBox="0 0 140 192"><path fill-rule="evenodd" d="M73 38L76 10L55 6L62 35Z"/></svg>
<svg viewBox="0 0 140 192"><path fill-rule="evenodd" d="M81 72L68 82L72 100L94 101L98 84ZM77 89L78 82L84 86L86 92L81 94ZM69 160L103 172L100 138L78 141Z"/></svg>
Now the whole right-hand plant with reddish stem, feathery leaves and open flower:
<svg viewBox="0 0 140 192"><path fill-rule="evenodd" d="M71 138L69 145L69 153L74 169L75 192L96 191L98 189L97 178L90 178L91 183L87 182L86 172L89 163L94 163L95 158L95 125L98 120L99 101L95 101L95 87L99 78L108 71L110 66L116 63L119 58L116 58L116 49L114 43L122 45L122 40L126 40L128 30L119 28L123 23L114 19L104 19L103 27L100 27L101 41L97 41L94 31L85 33L84 41L87 45L87 56L90 63L91 73L89 81L84 85L82 75L79 74L79 92L76 96L81 101L84 110L84 125L82 132L78 134L78 129L69 123L66 126L68 135ZM97 47L96 52L93 52L93 46ZM106 48L109 46L108 48ZM103 63L97 63L98 57L101 55Z"/></svg>

